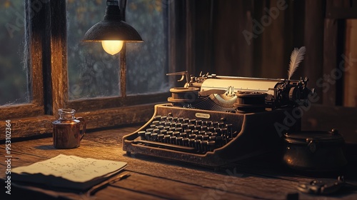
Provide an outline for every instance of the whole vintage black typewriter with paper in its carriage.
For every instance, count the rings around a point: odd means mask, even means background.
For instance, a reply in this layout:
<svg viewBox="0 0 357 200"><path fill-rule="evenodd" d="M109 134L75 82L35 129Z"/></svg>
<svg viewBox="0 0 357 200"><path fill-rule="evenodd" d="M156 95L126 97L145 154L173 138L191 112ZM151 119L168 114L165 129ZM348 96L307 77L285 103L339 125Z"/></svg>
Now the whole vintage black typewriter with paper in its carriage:
<svg viewBox="0 0 357 200"><path fill-rule="evenodd" d="M298 131L296 106L311 90L308 79L260 79L200 74L170 89L168 104L123 138L127 154L144 154L203 166L222 166L281 146L283 131Z"/></svg>

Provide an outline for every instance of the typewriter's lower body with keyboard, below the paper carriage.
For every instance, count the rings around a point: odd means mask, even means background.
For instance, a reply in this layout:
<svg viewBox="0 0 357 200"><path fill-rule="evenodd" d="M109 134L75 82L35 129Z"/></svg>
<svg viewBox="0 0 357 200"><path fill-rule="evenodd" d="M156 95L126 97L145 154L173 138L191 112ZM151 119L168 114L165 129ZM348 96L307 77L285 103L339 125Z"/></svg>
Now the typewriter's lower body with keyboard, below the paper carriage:
<svg viewBox="0 0 357 200"><path fill-rule="evenodd" d="M284 125L292 109L231 113L159 104L144 126L123 138L127 154L144 154L203 166L223 166L281 145L284 131L300 130L300 120ZM280 128L279 128L280 127Z"/></svg>

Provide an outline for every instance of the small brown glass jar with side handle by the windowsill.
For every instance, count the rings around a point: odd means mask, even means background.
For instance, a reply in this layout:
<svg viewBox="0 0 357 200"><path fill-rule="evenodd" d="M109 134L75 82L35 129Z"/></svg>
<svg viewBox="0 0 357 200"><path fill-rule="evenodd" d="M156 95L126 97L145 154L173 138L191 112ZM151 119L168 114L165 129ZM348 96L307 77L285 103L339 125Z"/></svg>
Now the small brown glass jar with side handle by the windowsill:
<svg viewBox="0 0 357 200"><path fill-rule="evenodd" d="M75 117L74 114L74 109L59 109L59 119L52 122L56 149L73 149L80 146L81 139L86 133L86 121L82 117Z"/></svg>

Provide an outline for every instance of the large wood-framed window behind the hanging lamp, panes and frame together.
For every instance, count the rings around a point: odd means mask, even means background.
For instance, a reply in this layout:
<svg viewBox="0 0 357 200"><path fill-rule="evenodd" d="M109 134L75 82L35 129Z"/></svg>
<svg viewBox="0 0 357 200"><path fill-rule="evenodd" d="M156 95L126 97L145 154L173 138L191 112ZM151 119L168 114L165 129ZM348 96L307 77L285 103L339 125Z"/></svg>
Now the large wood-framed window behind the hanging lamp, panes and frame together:
<svg viewBox="0 0 357 200"><path fill-rule="evenodd" d="M89 129L148 121L154 104L169 96L172 1L128 2L126 21L145 42L126 45L119 56L106 54L100 44L81 42L85 31L103 19L106 1L6 2L25 2L26 16L25 40L20 39L26 42L17 43L24 44L17 56L27 55L28 62L17 64L22 74L16 73L26 83L19 84L19 94L25 95L3 100L6 106L0 106L0 128L11 119L13 138L51 132L60 108L76 109Z"/></svg>

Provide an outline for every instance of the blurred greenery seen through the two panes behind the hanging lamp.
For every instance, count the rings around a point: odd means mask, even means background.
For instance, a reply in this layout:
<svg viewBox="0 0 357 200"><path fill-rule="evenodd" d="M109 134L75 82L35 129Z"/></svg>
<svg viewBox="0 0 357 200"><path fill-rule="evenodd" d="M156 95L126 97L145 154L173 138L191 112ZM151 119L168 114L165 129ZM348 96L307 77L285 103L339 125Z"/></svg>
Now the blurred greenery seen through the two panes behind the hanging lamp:
<svg viewBox="0 0 357 200"><path fill-rule="evenodd" d="M129 0L126 5L126 22L144 40L126 44L126 95L169 91L167 7L162 0ZM104 18L105 9L105 0L66 1L70 100L121 94L121 53L111 56L101 43L81 41Z"/></svg>

